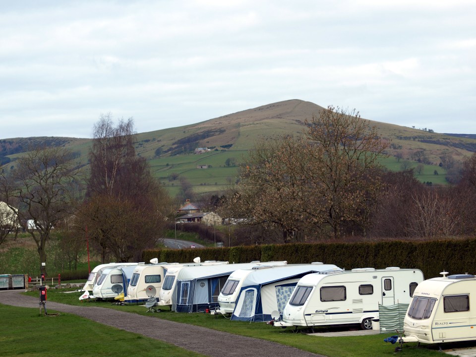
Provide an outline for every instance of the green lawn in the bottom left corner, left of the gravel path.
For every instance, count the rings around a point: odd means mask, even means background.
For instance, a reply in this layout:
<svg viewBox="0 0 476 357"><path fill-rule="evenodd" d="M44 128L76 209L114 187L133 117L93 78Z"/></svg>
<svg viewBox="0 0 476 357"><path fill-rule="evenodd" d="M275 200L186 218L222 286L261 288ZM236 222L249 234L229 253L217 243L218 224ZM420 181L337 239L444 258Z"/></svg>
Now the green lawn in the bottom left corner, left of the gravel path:
<svg viewBox="0 0 476 357"><path fill-rule="evenodd" d="M63 294L64 295L64 294ZM52 314L54 311L48 310ZM203 356L72 314L0 304L0 353L5 356ZM153 353L151 353L153 351Z"/></svg>

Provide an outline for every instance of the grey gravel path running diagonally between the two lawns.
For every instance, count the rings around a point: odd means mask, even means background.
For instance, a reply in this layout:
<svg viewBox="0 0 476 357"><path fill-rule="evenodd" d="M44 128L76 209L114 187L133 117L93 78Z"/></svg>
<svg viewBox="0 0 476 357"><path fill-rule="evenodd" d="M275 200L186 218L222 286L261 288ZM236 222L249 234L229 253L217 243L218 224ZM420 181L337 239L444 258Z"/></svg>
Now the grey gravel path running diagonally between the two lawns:
<svg viewBox="0 0 476 357"><path fill-rule="evenodd" d="M38 298L18 294L19 292L22 291L1 292L0 303L12 306L39 308ZM274 342L238 336L200 326L187 325L105 307L72 306L53 301L48 301L46 307L49 310L82 316L104 325L161 340L210 357L223 357L226 355L240 357L276 357L277 355L324 357ZM124 321L127 321L126 326L124 326Z"/></svg>

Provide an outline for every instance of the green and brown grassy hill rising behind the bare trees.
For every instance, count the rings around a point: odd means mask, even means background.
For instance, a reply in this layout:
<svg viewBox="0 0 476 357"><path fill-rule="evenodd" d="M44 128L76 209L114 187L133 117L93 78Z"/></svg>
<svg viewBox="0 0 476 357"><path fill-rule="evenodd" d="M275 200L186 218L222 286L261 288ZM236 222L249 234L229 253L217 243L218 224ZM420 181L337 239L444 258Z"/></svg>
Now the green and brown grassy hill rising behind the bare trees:
<svg viewBox="0 0 476 357"><path fill-rule="evenodd" d="M137 134L138 155L150 160L157 178L171 194L179 190L179 178L186 178L197 193L216 192L226 188L237 175L237 162L247 154L257 139L273 134L302 134L304 120L318 115L323 108L301 100L288 100L225 115L195 124ZM389 157L382 163L391 170L401 170L402 164L416 167L424 163L416 176L424 182L445 183L446 170L439 166L446 155L455 162L476 151L475 135L438 134L431 131L369 120L382 138L389 143ZM28 144L46 142L64 145L76 155L81 165L87 165L90 139L33 137L0 140L0 160L5 167L14 166L14 160ZM209 152L194 154L197 147ZM6 162L9 161L9 162ZM207 165L207 169L197 166ZM438 175L435 175L435 172Z"/></svg>

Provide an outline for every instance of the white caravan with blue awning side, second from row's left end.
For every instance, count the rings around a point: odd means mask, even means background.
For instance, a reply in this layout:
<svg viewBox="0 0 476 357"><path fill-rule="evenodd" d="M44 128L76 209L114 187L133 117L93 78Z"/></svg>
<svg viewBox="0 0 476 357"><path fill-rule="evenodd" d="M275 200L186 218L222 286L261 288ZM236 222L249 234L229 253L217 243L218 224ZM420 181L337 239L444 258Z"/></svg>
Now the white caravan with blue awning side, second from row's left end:
<svg viewBox="0 0 476 357"><path fill-rule="evenodd" d="M136 265L144 263L105 268L94 285L92 297L108 299L124 294Z"/></svg>

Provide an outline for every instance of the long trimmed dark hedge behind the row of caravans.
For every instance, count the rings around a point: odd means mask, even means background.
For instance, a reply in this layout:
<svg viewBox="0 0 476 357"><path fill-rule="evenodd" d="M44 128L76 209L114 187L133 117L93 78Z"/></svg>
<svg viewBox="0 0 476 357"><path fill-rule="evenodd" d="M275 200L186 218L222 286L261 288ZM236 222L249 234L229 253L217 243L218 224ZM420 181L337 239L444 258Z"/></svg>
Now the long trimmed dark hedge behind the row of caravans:
<svg viewBox="0 0 476 357"><path fill-rule="evenodd" d="M159 258L167 262L225 260L245 263L253 260L287 260L289 264L320 261L341 268L420 269L425 279L450 274L476 273L476 239L432 241L385 241L359 243L296 243L235 246L183 250L145 250L144 261Z"/></svg>

